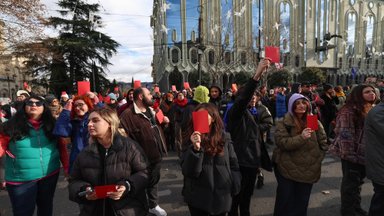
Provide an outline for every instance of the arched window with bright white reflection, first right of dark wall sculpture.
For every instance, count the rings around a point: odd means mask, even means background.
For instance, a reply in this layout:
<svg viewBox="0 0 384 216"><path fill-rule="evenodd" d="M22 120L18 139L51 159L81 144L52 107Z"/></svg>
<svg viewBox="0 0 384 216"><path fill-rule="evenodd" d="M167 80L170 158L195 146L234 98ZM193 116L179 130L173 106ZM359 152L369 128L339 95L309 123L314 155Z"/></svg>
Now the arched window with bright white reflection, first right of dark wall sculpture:
<svg viewBox="0 0 384 216"><path fill-rule="evenodd" d="M347 14L347 38L345 55L347 58L353 58L355 55L355 38L356 38L356 20L357 16L355 12L349 12Z"/></svg>

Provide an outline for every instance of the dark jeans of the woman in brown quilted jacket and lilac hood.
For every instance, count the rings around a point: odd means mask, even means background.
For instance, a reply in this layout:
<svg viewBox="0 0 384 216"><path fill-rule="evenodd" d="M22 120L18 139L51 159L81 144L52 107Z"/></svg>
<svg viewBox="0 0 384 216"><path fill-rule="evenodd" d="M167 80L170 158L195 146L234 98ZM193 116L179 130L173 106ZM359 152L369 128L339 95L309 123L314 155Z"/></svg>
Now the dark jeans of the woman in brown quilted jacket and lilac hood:
<svg viewBox="0 0 384 216"><path fill-rule="evenodd" d="M293 181L274 169L277 189L274 216L306 216L313 184Z"/></svg>

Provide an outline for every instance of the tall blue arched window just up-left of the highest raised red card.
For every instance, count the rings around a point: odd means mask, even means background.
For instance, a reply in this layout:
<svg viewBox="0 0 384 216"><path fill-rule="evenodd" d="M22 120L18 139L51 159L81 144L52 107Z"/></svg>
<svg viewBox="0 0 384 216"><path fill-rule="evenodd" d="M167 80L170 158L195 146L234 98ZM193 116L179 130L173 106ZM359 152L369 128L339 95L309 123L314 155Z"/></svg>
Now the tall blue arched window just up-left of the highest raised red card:
<svg viewBox="0 0 384 216"><path fill-rule="evenodd" d="M256 52L264 47L263 22L264 0L252 1L252 47Z"/></svg>

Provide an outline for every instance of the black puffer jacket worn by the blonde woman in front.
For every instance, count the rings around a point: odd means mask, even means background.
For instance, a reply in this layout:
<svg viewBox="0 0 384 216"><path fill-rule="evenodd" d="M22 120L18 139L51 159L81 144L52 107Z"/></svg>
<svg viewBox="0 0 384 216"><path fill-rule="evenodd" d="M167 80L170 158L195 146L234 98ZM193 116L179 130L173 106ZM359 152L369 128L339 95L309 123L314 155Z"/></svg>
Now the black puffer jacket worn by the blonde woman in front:
<svg viewBox="0 0 384 216"><path fill-rule="evenodd" d="M88 145L77 156L69 180L69 199L82 204L80 215L146 215L147 199L145 188L148 183L147 159L135 141L115 135L105 158L100 157L98 143ZM131 190L120 200L100 199L88 201L78 193L88 186L117 184L128 181ZM113 214L105 213L106 205ZM108 207L107 207L108 209ZM141 214L133 212L143 212Z"/></svg>

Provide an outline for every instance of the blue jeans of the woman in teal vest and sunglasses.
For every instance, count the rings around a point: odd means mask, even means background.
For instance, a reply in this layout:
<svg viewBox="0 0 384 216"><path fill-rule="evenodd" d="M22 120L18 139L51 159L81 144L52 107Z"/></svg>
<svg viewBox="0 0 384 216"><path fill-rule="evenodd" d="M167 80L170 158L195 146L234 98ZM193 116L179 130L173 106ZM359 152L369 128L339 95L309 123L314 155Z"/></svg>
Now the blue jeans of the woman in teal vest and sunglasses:
<svg viewBox="0 0 384 216"><path fill-rule="evenodd" d="M53 196L58 178L59 173L56 173L39 181L21 185L7 184L13 215L32 216L37 206L38 216L52 216Z"/></svg>

